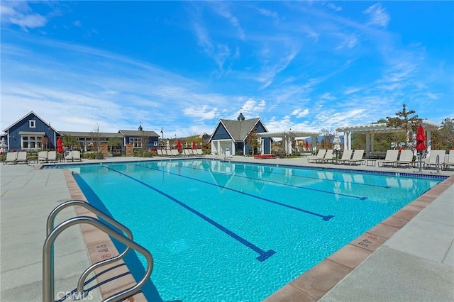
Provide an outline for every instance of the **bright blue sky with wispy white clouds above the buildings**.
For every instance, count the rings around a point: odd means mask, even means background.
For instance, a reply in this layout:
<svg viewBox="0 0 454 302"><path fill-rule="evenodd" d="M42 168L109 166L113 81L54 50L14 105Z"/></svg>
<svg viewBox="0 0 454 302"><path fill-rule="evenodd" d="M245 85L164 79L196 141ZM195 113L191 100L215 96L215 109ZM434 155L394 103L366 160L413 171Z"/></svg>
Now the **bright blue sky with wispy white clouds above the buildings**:
<svg viewBox="0 0 454 302"><path fill-rule="evenodd" d="M453 1L1 1L1 130L454 118Z"/></svg>

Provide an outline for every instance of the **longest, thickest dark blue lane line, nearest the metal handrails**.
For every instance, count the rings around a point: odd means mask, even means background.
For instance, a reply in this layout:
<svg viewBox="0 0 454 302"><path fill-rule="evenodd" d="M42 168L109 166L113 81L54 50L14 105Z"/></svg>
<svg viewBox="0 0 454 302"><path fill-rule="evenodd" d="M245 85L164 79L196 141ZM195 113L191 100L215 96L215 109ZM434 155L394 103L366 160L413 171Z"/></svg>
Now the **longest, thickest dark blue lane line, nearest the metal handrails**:
<svg viewBox="0 0 454 302"><path fill-rule="evenodd" d="M259 256L256 257L255 259L258 259L258 261L264 262L266 259L268 259L272 255L276 254L276 252L274 250L267 250L267 251L262 250L257 245L254 245L253 243L249 242L248 240L245 240L243 237L240 237L240 235L237 235L236 233L233 233L231 230L228 230L228 228L224 227L223 225L220 225L219 223L216 223L216 221L214 221L213 219L205 216L204 214L200 213L199 211L196 211L194 208L191 208L186 203L183 203L182 201L179 201L177 198L175 198L173 196L170 196L169 194L161 191L160 189L156 189L154 186L150 186L150 184L147 184L147 183L145 183L145 182L143 182L143 181L141 181L139 179L136 179L134 177L131 177L128 174L125 174L123 172L117 171L116 169L112 169L111 167L107 167L107 166L104 166L104 165L103 165L103 167L106 168L106 169L109 169L111 171L114 171L114 172L116 172L118 174L121 174L121 175L123 175L125 177L128 177L129 179L133 179L134 181L137 181L139 184L143 184L144 186L147 186L148 188L152 189L153 191L156 191L157 193L169 198L171 201L174 201L175 203L178 203L180 206L182 206L183 208L186 208L188 211L191 211L192 213L196 214L196 216L199 216L200 218L202 218L206 222L211 223L211 225L214 225L216 228L218 228L219 230L223 231L223 233L226 233L227 235L233 237L233 239L243 243L243 245L245 245L246 247L249 247L254 252L257 252ZM142 166L140 166L140 167L142 167Z"/></svg>

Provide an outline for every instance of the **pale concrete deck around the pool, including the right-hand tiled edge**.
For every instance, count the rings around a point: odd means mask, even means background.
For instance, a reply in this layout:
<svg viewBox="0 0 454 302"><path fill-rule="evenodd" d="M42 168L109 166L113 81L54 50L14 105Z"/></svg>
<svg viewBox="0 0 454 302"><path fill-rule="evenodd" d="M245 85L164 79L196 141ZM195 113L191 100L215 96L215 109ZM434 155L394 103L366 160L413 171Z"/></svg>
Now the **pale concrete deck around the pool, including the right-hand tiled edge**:
<svg viewBox="0 0 454 302"><path fill-rule="evenodd" d="M162 160L162 157L111 157L99 162L138 160ZM305 157L266 160L233 157L231 160L418 172L414 168L309 164ZM96 160L84 160L83 163L93 162ZM74 198L71 192L74 188L68 186L63 169L39 170L26 164L9 164L1 165L0 173L0 298L1 301L42 301L45 220L57 204ZM423 170L423 174L435 173L434 169ZM369 230L363 235L365 237L353 240L282 287L266 301L453 301L454 170L440 174L451 177ZM57 222L77 213L76 209L67 208L60 213ZM81 228L70 228L60 237L55 244L56 293L74 289L79 274L91 263L87 239L84 241ZM100 301L101 291L95 289L92 297L92 301ZM135 301L142 299L137 297Z"/></svg>

